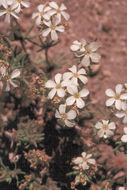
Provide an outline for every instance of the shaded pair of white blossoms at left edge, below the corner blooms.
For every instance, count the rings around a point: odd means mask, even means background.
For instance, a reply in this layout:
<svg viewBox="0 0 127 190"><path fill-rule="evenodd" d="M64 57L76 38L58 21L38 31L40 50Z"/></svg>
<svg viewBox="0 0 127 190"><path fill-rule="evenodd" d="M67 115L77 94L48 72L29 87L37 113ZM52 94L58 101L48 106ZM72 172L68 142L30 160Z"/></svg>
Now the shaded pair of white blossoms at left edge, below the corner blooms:
<svg viewBox="0 0 127 190"><path fill-rule="evenodd" d="M12 73L8 73L7 68L3 65L0 67L0 80L5 84L4 90L10 91L11 85L16 88L18 85L16 84L17 81L15 80L21 74L19 69L15 69Z"/></svg>

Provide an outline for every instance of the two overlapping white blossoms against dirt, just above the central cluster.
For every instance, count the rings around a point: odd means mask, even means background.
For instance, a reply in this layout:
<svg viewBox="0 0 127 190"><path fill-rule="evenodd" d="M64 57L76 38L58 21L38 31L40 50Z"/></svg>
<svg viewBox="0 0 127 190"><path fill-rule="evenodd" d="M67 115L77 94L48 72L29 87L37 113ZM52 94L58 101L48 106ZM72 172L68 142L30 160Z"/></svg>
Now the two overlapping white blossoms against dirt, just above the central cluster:
<svg viewBox="0 0 127 190"><path fill-rule="evenodd" d="M88 67L91 63L98 63L100 61L101 56L96 53L99 47L97 42L87 44L87 42L82 39L81 41L73 41L70 49L75 53L76 57L81 58L81 64L84 67Z"/></svg>

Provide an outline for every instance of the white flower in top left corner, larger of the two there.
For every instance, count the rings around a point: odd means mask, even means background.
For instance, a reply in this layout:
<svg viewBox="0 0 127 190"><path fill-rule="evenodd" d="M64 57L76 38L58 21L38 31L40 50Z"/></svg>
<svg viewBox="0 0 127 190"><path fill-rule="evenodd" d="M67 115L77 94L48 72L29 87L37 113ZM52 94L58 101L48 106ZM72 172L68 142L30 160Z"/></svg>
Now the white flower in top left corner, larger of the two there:
<svg viewBox="0 0 127 190"><path fill-rule="evenodd" d="M10 16L15 17L16 19L19 19L19 17L16 15L16 7L13 0L3 0L2 6L5 10L0 11L0 16L5 15L5 22L10 23Z"/></svg>

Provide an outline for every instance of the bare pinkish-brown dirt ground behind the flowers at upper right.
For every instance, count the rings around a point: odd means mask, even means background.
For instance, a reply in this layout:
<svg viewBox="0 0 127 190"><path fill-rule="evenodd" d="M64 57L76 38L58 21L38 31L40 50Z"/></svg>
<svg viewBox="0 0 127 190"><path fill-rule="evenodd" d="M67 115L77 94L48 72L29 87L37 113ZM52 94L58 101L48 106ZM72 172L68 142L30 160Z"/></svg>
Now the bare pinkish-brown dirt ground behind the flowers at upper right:
<svg viewBox="0 0 127 190"><path fill-rule="evenodd" d="M32 1L35 11L40 1ZM42 1L43 2L43 1ZM59 2L59 1L58 1ZM73 40L97 39L101 44L99 74L89 79L88 86L95 103L104 105L105 90L126 82L127 73L127 1L126 0L60 0L70 14L69 30L61 35L61 43L52 48L52 54L70 54ZM29 17L28 17L29 22ZM59 51L58 51L59 50ZM59 55L57 55L59 57Z"/></svg>

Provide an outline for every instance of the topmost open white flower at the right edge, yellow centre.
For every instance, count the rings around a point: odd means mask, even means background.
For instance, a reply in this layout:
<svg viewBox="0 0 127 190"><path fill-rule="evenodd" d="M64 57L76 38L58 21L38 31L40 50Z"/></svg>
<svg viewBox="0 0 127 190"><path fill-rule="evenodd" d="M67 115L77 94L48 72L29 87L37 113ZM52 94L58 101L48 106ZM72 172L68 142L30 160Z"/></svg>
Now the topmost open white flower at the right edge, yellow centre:
<svg viewBox="0 0 127 190"><path fill-rule="evenodd" d="M114 92L112 89L107 89L105 91L106 95L110 98L106 101L106 106L112 106L115 104L116 109L120 110L122 108L122 101L127 100L127 93L121 94L123 85L117 84Z"/></svg>

